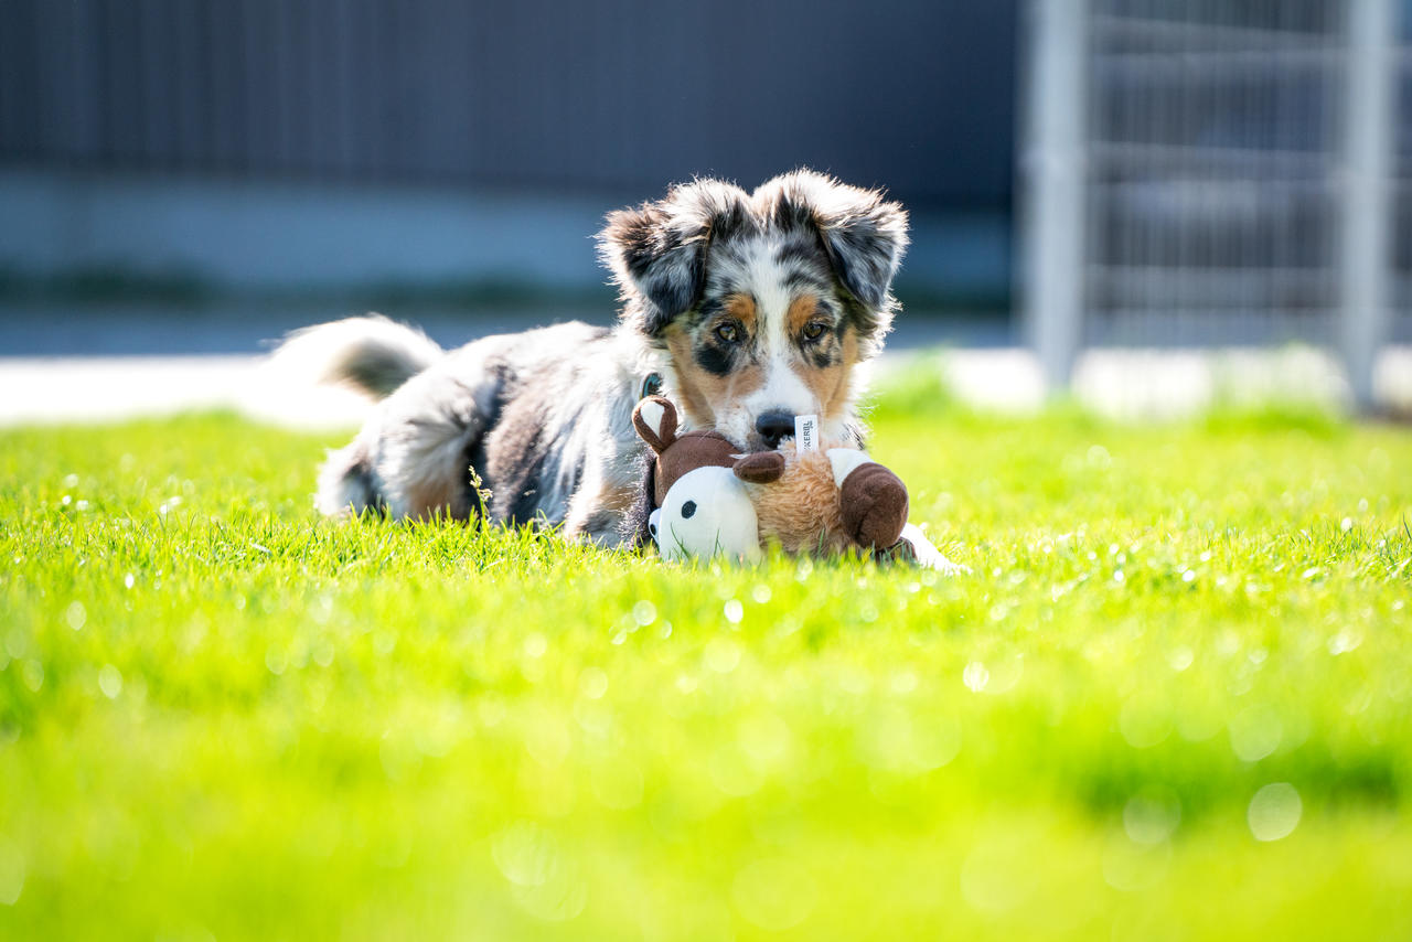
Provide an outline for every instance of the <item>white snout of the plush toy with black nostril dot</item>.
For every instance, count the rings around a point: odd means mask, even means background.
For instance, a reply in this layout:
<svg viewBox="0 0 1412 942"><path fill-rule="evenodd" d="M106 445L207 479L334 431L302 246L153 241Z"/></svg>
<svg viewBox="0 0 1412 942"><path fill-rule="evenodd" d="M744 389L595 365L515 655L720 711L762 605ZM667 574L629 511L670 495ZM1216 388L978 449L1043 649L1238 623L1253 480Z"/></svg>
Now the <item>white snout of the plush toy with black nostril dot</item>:
<svg viewBox="0 0 1412 942"><path fill-rule="evenodd" d="M652 511L648 528L664 559L761 556L755 507L729 467L698 467L682 475Z"/></svg>

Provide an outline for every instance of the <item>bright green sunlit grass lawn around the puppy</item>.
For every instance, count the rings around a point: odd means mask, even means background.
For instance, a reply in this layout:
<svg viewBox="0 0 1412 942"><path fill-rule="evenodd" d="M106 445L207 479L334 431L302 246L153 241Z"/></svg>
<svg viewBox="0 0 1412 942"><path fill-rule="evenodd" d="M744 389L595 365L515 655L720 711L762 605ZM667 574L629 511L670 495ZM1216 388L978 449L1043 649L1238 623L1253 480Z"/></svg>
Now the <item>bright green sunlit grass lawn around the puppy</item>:
<svg viewBox="0 0 1412 942"><path fill-rule="evenodd" d="M969 575L323 523L339 435L0 434L0 938L1412 935L1412 432L874 455Z"/></svg>

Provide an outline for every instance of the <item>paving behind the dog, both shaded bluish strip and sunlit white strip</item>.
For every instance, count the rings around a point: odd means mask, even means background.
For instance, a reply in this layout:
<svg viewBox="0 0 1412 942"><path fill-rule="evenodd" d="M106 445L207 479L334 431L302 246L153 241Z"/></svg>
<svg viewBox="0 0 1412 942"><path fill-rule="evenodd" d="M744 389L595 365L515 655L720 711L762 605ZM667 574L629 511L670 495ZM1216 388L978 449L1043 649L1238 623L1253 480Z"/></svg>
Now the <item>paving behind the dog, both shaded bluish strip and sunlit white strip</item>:
<svg viewBox="0 0 1412 942"><path fill-rule="evenodd" d="M97 422L229 408L289 427L357 424L367 403L345 390L311 387L275 373L264 354L287 330L342 316L333 308L270 304L196 311L157 306L0 305L0 425ZM480 314L398 311L439 343L518 330L602 309L505 309ZM940 352L939 352L940 350ZM963 400L1025 411L1045 400L1039 366L1003 319L908 312L874 364L885 378L908 357L942 370ZM1389 350L1380 367L1385 401L1412 414L1412 347ZM1075 394L1118 417L1190 412L1216 398L1343 403L1337 364L1308 347L1278 350L1096 350L1080 363Z"/></svg>

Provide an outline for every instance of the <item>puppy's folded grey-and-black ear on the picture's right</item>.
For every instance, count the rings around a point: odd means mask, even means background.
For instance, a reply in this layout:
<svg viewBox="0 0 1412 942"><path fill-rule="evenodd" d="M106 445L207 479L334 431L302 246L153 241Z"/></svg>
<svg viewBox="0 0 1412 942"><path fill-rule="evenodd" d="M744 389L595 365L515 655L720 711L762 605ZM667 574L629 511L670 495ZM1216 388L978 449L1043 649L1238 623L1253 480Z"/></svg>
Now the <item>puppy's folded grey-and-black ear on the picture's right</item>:
<svg viewBox="0 0 1412 942"><path fill-rule="evenodd" d="M907 251L907 210L875 189L849 186L825 174L799 169L777 177L755 193L775 225L813 226L839 281L871 316L866 332L885 328L892 314L892 278Z"/></svg>

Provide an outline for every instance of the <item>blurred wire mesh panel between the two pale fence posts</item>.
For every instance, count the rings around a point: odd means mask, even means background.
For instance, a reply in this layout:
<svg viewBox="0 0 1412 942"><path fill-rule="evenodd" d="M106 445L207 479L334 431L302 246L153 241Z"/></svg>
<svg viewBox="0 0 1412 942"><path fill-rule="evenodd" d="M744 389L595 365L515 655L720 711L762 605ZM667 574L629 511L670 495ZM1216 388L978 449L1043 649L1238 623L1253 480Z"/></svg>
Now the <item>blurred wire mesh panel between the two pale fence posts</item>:
<svg viewBox="0 0 1412 942"><path fill-rule="evenodd" d="M1330 342L1344 11L1093 0L1083 342Z"/></svg>

